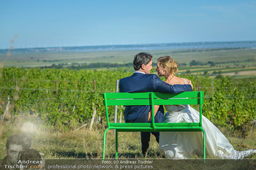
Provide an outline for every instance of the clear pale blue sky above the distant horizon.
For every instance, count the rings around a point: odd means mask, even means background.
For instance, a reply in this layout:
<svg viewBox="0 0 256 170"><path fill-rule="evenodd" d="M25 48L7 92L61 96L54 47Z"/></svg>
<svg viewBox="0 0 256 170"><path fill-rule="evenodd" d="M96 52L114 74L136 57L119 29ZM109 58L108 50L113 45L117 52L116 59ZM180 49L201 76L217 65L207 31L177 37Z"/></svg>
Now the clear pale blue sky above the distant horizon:
<svg viewBox="0 0 256 170"><path fill-rule="evenodd" d="M0 49L256 40L256 1L0 0Z"/></svg>

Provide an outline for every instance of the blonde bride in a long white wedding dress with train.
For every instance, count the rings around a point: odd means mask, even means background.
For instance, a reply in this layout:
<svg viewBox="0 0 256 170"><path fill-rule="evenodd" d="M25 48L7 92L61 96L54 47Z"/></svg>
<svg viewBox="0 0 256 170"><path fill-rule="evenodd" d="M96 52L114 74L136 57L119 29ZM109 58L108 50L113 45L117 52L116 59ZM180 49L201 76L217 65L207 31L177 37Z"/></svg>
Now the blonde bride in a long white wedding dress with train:
<svg viewBox="0 0 256 170"><path fill-rule="evenodd" d="M159 77L164 76L170 85L188 84L189 80L176 77L178 63L170 56L158 58L157 69ZM155 106L157 110L159 106ZM165 123L199 122L199 112L189 105L167 105ZM206 154L219 157L239 159L251 155L256 150L236 151L221 131L206 117L202 117L203 129L206 131ZM203 155L202 132L161 132L159 151L166 158L190 158L192 155Z"/></svg>

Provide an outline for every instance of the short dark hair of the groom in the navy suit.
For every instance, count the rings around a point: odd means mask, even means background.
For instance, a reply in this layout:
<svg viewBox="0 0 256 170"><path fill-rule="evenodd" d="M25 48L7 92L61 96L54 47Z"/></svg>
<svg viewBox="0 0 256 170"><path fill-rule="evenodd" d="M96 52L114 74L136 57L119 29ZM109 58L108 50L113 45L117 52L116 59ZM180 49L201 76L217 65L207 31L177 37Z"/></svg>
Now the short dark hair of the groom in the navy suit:
<svg viewBox="0 0 256 170"><path fill-rule="evenodd" d="M153 56L150 53L138 53L133 60L133 67L135 70L139 70L143 64L147 65L152 58Z"/></svg>

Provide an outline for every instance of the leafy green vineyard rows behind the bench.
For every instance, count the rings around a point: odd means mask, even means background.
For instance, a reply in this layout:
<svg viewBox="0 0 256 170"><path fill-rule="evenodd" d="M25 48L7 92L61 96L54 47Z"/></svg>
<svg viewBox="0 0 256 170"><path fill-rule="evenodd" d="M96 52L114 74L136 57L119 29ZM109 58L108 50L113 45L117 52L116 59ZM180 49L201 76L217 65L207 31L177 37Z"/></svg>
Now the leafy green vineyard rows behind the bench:
<svg viewBox="0 0 256 170"><path fill-rule="evenodd" d="M91 120L94 110L105 119L102 93L115 92L116 80L132 72L69 69L0 70L0 115L38 115L45 124L68 130ZM256 117L256 80L182 75L205 93L203 115L216 125L246 128ZM196 107L196 106L193 106ZM110 111L113 115L114 107ZM120 112L118 112L120 114ZM5 117L4 117L5 116Z"/></svg>

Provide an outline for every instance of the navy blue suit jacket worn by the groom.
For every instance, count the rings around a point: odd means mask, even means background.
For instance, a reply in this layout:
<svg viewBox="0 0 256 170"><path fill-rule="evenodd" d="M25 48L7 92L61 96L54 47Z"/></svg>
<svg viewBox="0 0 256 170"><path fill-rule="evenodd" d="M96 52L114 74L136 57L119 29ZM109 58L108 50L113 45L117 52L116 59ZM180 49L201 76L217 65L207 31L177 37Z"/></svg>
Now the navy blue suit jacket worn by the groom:
<svg viewBox="0 0 256 170"><path fill-rule="evenodd" d="M161 93L181 93L192 91L192 87L191 85L169 85L163 82L156 74L143 74L140 72L135 72L132 76L125 77L119 82L119 92L135 93L154 91ZM147 117L146 115L148 115L150 110L150 106L127 106L124 110L124 120L126 123L147 122L146 118L141 120L140 117ZM163 114L163 107L160 107L159 110ZM157 113L157 115L159 114ZM161 121L161 119L155 120L156 123Z"/></svg>

